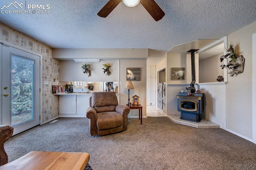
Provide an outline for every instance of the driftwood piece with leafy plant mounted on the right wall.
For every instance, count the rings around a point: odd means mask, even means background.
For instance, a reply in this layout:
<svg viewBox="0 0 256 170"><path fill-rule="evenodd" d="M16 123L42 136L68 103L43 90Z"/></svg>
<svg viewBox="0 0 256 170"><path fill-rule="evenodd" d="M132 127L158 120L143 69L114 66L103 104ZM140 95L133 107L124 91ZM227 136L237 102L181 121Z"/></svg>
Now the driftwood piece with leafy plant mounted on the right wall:
<svg viewBox="0 0 256 170"><path fill-rule="evenodd" d="M227 65L222 64L220 67L231 69L232 71L228 74L231 74L230 77L233 77L234 74L239 74L244 72L244 56L238 55L235 53L234 45L230 44L229 48L227 48L228 54L220 56L220 62L224 60L224 58L230 58L231 60L228 62Z"/></svg>

